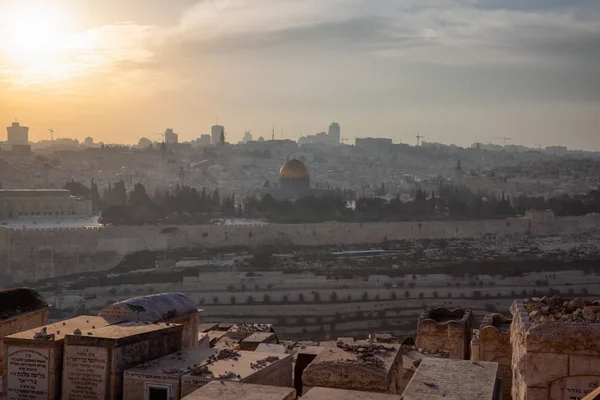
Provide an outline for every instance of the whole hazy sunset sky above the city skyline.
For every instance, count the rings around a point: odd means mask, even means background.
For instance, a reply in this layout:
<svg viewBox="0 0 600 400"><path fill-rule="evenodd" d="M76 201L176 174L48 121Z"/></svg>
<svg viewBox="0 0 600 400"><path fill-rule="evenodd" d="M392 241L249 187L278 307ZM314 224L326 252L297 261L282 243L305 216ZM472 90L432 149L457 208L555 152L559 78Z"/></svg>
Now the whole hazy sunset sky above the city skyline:
<svg viewBox="0 0 600 400"><path fill-rule="evenodd" d="M598 21L597 0L0 0L0 126L600 150Z"/></svg>

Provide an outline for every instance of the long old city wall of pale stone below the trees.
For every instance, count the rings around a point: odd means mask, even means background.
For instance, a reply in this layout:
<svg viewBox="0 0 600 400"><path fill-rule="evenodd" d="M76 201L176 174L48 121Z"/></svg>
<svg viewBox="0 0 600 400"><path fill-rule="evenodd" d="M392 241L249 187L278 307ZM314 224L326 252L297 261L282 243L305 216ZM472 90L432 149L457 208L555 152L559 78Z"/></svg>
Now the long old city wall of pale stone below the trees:
<svg viewBox="0 0 600 400"><path fill-rule="evenodd" d="M597 230L598 217L556 218L534 224L532 218L482 221L398 223L322 223L303 225L127 226L88 229L0 229L0 277L12 282L40 280L114 267L126 254L182 247L267 244L337 245L384 240L484 239L491 236L552 234ZM535 229L534 229L535 226Z"/></svg>

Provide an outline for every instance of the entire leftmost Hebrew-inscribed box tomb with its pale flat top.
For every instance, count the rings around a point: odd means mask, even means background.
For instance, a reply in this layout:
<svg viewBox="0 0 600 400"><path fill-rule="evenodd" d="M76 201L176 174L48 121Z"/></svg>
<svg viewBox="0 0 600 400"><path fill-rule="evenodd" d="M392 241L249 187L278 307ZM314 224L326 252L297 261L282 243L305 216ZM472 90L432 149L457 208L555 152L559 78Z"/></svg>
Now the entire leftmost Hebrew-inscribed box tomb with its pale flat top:
<svg viewBox="0 0 600 400"><path fill-rule="evenodd" d="M4 338L6 399L60 399L65 335L107 325L104 318L83 315Z"/></svg>

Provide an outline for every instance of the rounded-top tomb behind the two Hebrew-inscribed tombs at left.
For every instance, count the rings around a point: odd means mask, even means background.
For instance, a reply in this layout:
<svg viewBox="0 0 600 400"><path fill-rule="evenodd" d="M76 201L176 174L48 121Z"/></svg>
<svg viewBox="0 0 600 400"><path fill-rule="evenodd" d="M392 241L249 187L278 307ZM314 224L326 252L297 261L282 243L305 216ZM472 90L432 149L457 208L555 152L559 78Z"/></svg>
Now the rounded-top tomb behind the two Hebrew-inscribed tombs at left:
<svg viewBox="0 0 600 400"><path fill-rule="evenodd" d="M173 322L183 325L183 347L198 345L198 309L183 293L134 297L104 307L98 316L122 322Z"/></svg>

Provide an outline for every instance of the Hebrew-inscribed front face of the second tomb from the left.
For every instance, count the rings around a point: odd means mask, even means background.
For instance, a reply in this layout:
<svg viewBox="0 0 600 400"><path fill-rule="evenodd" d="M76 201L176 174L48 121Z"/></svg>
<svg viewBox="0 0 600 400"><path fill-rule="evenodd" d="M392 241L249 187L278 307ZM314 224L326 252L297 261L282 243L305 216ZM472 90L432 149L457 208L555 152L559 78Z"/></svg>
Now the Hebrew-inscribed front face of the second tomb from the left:
<svg viewBox="0 0 600 400"><path fill-rule="evenodd" d="M108 350L103 347L65 348L63 395L65 400L104 399Z"/></svg>

